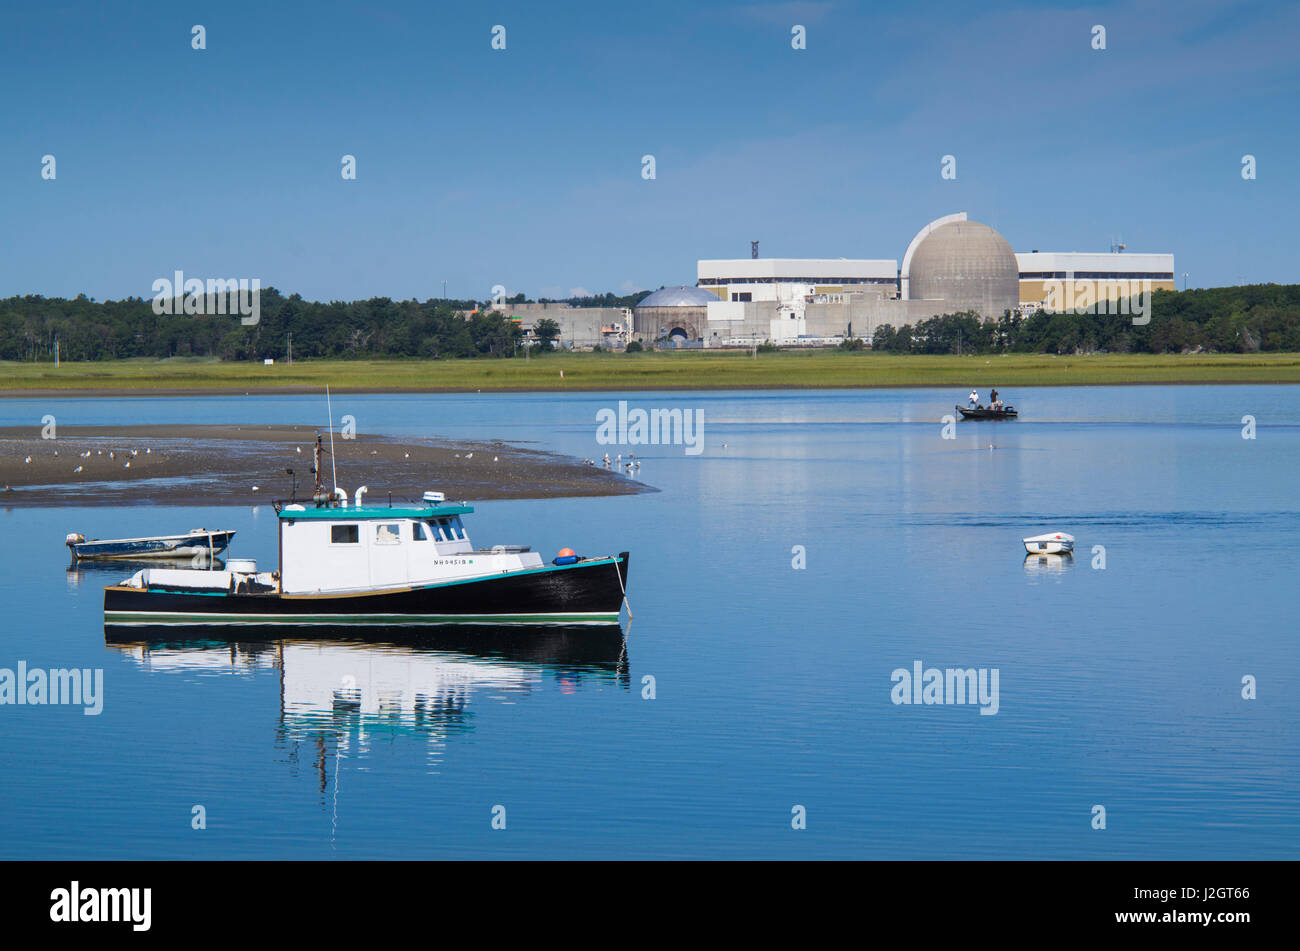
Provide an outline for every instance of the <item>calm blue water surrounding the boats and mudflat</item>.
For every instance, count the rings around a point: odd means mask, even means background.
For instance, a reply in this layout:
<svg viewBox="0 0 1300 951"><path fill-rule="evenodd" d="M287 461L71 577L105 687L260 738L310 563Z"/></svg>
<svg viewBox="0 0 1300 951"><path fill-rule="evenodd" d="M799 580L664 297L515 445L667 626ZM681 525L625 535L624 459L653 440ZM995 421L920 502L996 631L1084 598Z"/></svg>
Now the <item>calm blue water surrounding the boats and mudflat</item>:
<svg viewBox="0 0 1300 951"><path fill-rule="evenodd" d="M658 494L469 521L480 544L630 550L625 652L107 644L122 572L69 576L68 531L233 527L270 565L270 509L0 511L0 666L105 677L98 717L0 707L0 857L1294 857L1300 390L1005 395L1020 421L952 440L959 388L335 398L363 433L576 456L620 398L702 411L701 456L621 447ZM0 401L0 425L44 413L325 421L315 398ZM1020 537L1057 527L1072 564L1027 565ZM893 704L918 660L997 668L998 712Z"/></svg>

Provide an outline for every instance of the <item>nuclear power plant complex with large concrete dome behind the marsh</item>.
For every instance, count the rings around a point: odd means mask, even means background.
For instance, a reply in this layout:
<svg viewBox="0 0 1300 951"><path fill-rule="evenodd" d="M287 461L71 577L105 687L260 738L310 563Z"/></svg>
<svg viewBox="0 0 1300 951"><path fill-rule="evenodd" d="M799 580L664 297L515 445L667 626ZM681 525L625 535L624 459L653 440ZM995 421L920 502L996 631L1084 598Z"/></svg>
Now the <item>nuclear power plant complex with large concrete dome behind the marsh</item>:
<svg viewBox="0 0 1300 951"><path fill-rule="evenodd" d="M677 347L827 347L867 343L876 327L974 312L996 320L1053 305L1053 287L1093 282L1097 298L1127 298L1134 282L1174 290L1171 253L1017 253L965 212L922 227L897 259L701 260L694 287L663 287L634 309L510 304L529 331L538 320L560 326L560 346L621 348L632 340ZM1143 283L1147 282L1147 283Z"/></svg>

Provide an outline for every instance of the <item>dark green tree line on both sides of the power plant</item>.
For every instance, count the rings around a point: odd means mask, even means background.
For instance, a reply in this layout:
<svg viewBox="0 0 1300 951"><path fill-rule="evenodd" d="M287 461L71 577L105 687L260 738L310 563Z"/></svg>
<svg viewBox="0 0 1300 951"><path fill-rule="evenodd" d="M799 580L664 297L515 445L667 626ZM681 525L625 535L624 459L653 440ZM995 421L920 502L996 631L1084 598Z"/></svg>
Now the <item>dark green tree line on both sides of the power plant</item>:
<svg viewBox="0 0 1300 951"><path fill-rule="evenodd" d="M593 295L584 304L633 307L634 295ZM226 308L233 312L234 308ZM540 321L537 343L550 349L558 330ZM260 320L238 316L155 314L147 298L96 301L23 296L0 300L0 360L121 360L203 356L221 360L515 357L523 353L517 321L473 300L309 301L263 288ZM915 325L883 325L875 349L896 353L1169 353L1210 351L1300 352L1300 285L1249 285L1156 291L1150 320L1117 314L940 314Z"/></svg>

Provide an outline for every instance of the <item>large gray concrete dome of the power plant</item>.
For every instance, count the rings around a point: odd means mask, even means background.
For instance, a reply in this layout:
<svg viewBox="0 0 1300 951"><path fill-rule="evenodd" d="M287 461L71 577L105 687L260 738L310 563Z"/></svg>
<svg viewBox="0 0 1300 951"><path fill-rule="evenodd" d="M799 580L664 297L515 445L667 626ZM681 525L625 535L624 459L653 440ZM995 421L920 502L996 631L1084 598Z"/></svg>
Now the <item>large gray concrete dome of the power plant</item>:
<svg viewBox="0 0 1300 951"><path fill-rule="evenodd" d="M979 311L1000 317L1020 298L1015 252L978 221L952 221L922 238L907 269L913 300L942 300L945 312Z"/></svg>

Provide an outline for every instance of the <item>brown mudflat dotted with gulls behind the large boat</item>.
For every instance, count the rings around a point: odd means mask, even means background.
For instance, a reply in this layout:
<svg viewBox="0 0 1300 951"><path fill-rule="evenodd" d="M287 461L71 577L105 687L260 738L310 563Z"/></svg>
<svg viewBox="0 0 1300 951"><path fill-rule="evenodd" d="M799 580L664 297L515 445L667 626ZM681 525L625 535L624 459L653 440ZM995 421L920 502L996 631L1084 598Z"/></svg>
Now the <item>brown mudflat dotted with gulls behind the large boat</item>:
<svg viewBox="0 0 1300 951"><path fill-rule="evenodd" d="M316 426L134 425L0 427L0 505L246 505L311 499ZM326 440L326 450L329 448ZM332 466L348 492L467 500L603 498L658 491L603 466L519 444L436 438L334 438ZM292 469L294 476L286 470Z"/></svg>

